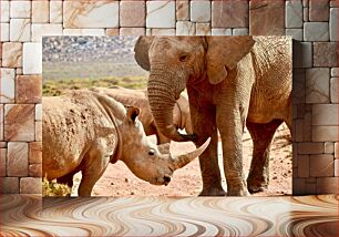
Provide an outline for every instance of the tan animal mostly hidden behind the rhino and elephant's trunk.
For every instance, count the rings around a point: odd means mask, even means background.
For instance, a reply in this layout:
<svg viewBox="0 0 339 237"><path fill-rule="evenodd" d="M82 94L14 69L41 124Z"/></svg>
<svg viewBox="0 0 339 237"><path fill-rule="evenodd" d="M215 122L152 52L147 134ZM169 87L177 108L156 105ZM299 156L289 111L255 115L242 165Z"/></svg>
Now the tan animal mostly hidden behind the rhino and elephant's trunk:
<svg viewBox="0 0 339 237"><path fill-rule="evenodd" d="M156 126L150 109L146 90L131 90L121 86L113 86L109 89L91 87L90 90L99 93L104 93L124 105L133 105L138 107L141 110L138 120L142 122L146 135L150 136L155 134L157 144L165 144L171 142L171 140L164 136ZM186 133L193 133L189 104L184 95L181 95L179 99L175 102L173 109L173 123L177 128L185 128Z"/></svg>

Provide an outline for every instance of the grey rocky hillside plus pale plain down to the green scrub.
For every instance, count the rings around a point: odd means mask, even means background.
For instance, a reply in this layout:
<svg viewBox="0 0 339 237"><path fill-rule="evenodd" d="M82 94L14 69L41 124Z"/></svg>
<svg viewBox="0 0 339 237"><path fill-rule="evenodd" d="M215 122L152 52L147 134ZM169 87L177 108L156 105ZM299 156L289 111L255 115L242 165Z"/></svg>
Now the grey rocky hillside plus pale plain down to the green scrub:
<svg viewBox="0 0 339 237"><path fill-rule="evenodd" d="M43 38L43 78L66 80L146 75L134 59L136 40L137 37Z"/></svg>

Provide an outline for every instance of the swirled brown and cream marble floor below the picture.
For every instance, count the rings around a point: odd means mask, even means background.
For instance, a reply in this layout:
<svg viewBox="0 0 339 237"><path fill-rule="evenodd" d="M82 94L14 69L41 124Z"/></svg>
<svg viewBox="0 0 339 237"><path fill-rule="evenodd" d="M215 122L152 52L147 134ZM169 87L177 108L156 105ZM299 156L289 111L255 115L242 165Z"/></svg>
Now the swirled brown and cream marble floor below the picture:
<svg viewBox="0 0 339 237"><path fill-rule="evenodd" d="M1 236L338 236L337 195L96 197L3 195Z"/></svg>

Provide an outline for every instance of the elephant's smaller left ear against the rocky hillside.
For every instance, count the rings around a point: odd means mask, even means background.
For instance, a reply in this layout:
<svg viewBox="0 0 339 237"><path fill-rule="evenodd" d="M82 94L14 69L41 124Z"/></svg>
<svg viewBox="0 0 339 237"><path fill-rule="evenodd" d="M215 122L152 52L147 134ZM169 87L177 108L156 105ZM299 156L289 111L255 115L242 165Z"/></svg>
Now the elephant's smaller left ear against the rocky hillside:
<svg viewBox="0 0 339 237"><path fill-rule="evenodd" d="M140 37L134 47L134 58L137 64L146 71L150 71L148 50L154 37Z"/></svg>

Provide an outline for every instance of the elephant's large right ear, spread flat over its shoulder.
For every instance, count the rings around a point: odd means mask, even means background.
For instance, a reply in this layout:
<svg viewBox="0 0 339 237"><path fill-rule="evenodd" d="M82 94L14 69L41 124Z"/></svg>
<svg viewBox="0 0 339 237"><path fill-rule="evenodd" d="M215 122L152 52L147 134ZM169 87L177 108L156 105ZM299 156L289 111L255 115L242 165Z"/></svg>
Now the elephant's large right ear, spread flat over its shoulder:
<svg viewBox="0 0 339 237"><path fill-rule="evenodd" d="M218 84L250 52L255 44L253 37L207 37L207 75L210 84ZM227 69L226 69L227 68Z"/></svg>

